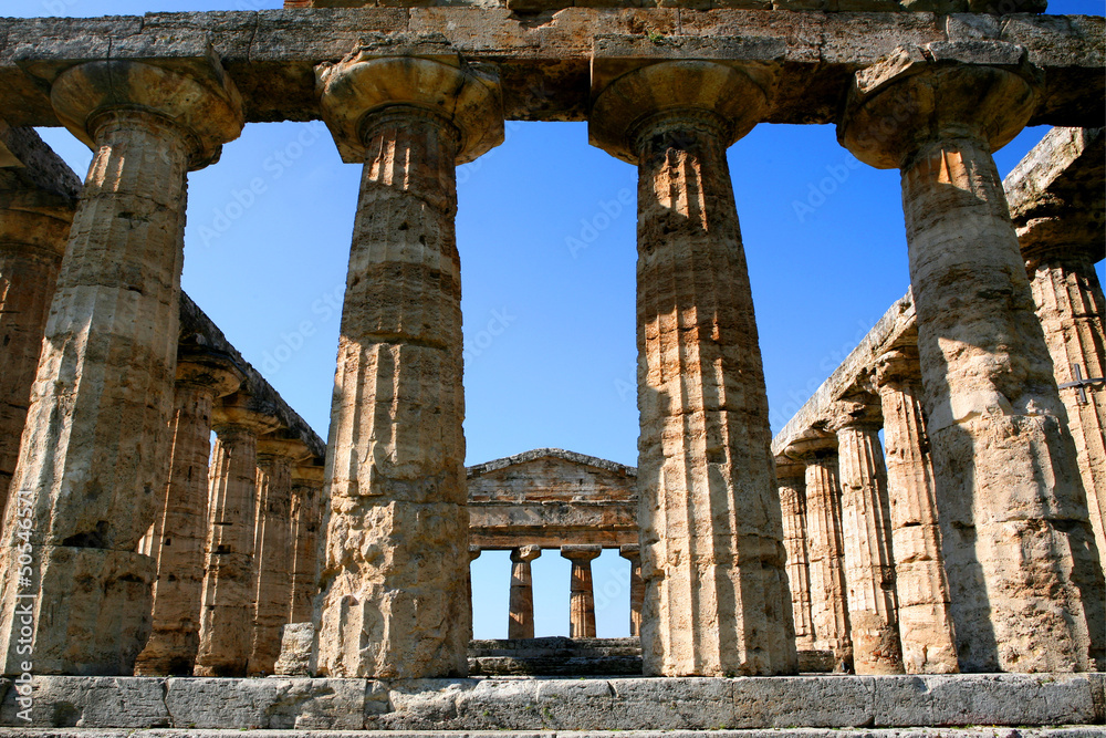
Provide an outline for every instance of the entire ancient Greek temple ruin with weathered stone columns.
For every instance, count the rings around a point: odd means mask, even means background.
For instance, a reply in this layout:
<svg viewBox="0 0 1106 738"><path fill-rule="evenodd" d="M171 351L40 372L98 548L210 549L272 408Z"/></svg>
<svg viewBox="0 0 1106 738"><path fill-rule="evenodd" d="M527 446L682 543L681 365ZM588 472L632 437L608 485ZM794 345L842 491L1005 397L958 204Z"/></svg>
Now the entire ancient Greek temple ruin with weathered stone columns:
<svg viewBox="0 0 1106 738"><path fill-rule="evenodd" d="M6 730L1106 720L1103 18L643 4L0 19ZM180 291L188 173L316 119L363 167L325 441ZM508 119L637 166L636 469L465 467L455 171ZM774 439L726 159L760 123L900 170L911 277ZM1003 181L1027 125L1055 128ZM88 145L83 184L34 126ZM617 653L604 548L634 572ZM495 673L488 549L504 648L556 550L572 638L640 673L467 678Z"/></svg>

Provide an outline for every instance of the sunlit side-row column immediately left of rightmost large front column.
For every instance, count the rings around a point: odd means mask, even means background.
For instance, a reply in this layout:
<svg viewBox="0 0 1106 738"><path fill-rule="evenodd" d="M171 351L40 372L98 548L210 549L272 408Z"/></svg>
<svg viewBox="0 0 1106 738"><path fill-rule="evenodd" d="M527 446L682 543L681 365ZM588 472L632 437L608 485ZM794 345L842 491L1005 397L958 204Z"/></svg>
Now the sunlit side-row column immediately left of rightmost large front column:
<svg viewBox="0 0 1106 738"><path fill-rule="evenodd" d="M902 347L880 356L876 383L884 418L902 665L908 674L954 674L959 671L957 648L917 350Z"/></svg>

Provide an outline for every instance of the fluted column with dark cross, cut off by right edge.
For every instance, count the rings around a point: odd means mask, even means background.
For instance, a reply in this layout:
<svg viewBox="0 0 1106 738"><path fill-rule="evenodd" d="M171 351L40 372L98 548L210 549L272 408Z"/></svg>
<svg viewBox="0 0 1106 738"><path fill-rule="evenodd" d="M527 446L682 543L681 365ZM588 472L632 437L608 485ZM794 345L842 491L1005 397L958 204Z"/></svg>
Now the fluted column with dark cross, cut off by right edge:
<svg viewBox="0 0 1106 738"><path fill-rule="evenodd" d="M1102 225L1081 242L1074 228L1065 238L1063 222L1047 236L1044 228L1022 236L1022 254L1106 570L1106 297L1094 267L1103 258ZM1088 378L1098 381L1081 382Z"/></svg>

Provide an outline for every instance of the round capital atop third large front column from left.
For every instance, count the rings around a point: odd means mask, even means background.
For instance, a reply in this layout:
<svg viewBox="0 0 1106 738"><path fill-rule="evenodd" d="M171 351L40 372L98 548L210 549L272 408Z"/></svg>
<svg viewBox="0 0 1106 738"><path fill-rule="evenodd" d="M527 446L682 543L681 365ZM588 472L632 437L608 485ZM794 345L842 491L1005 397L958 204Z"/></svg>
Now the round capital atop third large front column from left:
<svg viewBox="0 0 1106 738"><path fill-rule="evenodd" d="M587 139L635 165L641 139L658 128L705 127L723 138L724 146L732 145L760 123L773 83L765 69L718 62L625 67L623 60L593 61Z"/></svg>

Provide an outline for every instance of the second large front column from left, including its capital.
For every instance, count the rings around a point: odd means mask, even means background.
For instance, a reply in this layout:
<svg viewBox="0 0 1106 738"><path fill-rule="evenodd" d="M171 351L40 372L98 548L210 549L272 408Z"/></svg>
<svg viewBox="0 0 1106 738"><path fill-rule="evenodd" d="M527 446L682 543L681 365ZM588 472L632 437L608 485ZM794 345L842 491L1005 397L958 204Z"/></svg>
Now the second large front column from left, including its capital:
<svg viewBox="0 0 1106 738"><path fill-rule="evenodd" d="M343 160L364 164L331 406L319 672L463 675L456 165L502 141L498 77L456 55L367 49L317 76Z"/></svg>

